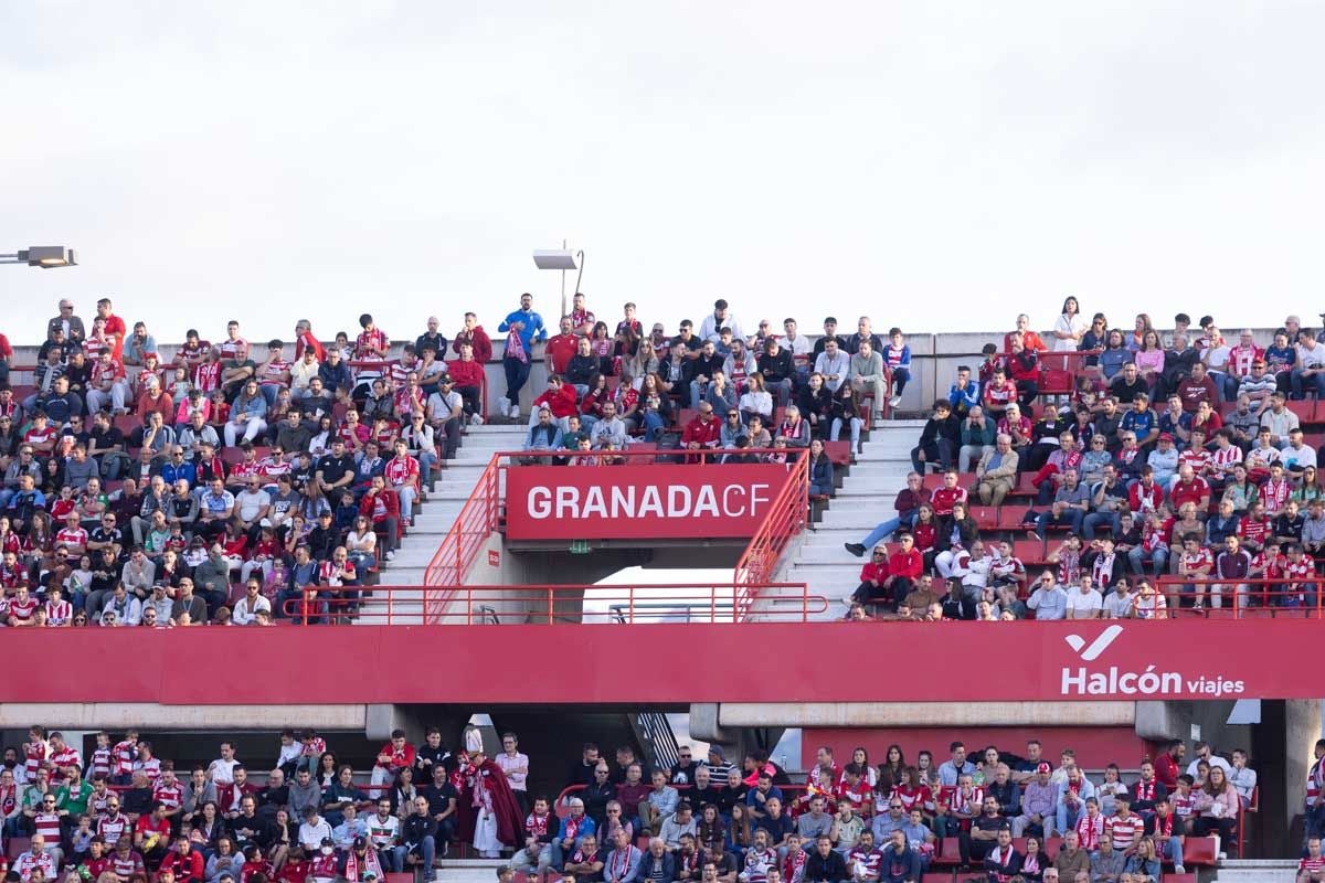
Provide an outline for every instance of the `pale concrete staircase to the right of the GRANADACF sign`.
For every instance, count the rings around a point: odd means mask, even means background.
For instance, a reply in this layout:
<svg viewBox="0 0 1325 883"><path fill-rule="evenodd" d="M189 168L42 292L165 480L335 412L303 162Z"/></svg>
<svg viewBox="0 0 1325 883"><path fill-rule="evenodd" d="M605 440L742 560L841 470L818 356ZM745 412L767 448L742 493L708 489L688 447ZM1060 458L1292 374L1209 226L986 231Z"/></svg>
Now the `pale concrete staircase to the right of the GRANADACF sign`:
<svg viewBox="0 0 1325 883"><path fill-rule="evenodd" d="M828 598L828 612L820 618L840 618L847 613L844 598L860 585L864 561L844 549L843 543L860 543L876 524L896 515L893 500L906 486L910 449L924 426L924 420L890 420L873 429L823 520L791 552L782 581L804 581L811 594Z"/></svg>

